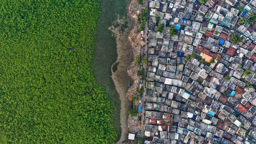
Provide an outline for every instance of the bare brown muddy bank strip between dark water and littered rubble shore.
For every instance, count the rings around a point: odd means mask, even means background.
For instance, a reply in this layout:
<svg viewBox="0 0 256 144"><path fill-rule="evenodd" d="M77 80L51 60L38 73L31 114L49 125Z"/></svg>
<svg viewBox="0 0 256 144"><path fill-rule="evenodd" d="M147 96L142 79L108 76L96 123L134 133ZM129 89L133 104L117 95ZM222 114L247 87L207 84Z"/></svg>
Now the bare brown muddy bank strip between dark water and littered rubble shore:
<svg viewBox="0 0 256 144"><path fill-rule="evenodd" d="M123 24L125 20L118 20L119 24ZM128 128L127 128L127 117L128 111L130 110L130 102L125 96L128 88L130 87L130 82L132 81L127 73L127 68L132 63L132 58L130 58L132 53L132 47L129 41L127 41L128 30L125 29L124 32L120 30L121 26L114 28L111 27L114 36L116 37L117 43L117 69L114 72L112 68L112 79L116 87L117 93L120 96L121 109L120 109L120 124L121 124L121 137L117 144L121 144L123 141L127 140ZM114 66L114 64L113 64ZM113 67L112 66L112 67Z"/></svg>

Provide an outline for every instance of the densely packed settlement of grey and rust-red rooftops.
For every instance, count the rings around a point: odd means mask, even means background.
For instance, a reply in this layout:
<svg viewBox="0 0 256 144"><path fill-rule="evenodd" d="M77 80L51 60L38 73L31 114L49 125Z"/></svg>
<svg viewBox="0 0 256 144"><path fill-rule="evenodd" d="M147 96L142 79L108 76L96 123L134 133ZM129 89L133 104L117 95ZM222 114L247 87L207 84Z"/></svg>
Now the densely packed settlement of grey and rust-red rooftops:
<svg viewBox="0 0 256 144"><path fill-rule="evenodd" d="M149 11L145 143L255 143L256 0Z"/></svg>

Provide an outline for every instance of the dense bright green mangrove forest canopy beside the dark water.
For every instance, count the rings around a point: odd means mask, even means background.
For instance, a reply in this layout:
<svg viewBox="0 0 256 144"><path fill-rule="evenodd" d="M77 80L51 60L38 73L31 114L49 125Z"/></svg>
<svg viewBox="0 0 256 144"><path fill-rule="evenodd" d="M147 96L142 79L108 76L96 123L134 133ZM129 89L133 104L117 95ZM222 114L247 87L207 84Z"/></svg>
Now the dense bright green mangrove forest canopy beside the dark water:
<svg viewBox="0 0 256 144"><path fill-rule="evenodd" d="M0 1L0 143L114 143L93 74L100 0Z"/></svg>

